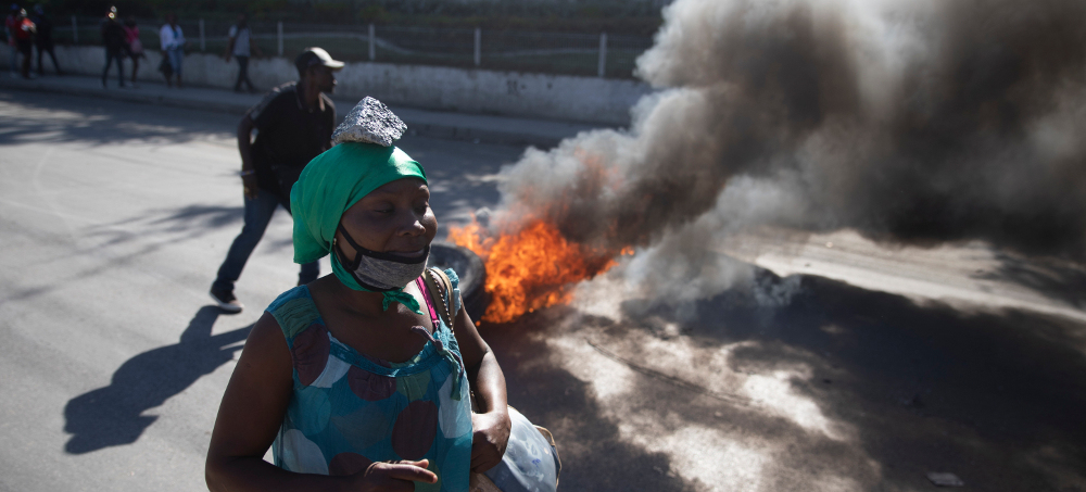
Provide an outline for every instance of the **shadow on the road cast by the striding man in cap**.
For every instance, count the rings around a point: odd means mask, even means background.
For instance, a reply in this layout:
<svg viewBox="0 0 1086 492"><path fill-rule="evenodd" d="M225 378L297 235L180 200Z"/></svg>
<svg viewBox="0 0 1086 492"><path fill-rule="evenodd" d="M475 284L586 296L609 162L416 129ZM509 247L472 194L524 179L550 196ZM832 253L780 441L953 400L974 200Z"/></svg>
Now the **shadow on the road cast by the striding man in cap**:
<svg viewBox="0 0 1086 492"><path fill-rule="evenodd" d="M64 431L72 437L64 450L83 454L130 444L157 419L142 415L180 393L202 376L233 358L252 326L212 336L220 311L204 306L181 333L180 342L154 349L125 362L110 386L80 394L64 407ZM233 346L229 346L233 345Z"/></svg>

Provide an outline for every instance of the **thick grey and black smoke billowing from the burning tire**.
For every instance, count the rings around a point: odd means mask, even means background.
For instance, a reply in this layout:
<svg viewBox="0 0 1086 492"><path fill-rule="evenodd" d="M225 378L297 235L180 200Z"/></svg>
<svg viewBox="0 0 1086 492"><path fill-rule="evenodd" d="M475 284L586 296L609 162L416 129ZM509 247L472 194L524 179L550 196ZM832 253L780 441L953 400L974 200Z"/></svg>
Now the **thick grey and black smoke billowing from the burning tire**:
<svg viewBox="0 0 1086 492"><path fill-rule="evenodd" d="M1086 2L678 0L664 14L637 68L662 90L629 131L507 168L494 227L543 215L580 242L643 247L657 281L696 278L706 242L756 225L1086 252Z"/></svg>

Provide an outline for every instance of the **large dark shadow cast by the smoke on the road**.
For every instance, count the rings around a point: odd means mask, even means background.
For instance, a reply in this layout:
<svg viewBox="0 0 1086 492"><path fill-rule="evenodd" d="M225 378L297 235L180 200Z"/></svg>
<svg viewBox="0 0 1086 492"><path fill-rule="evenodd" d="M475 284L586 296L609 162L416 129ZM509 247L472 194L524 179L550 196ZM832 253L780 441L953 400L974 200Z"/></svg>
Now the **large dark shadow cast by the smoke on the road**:
<svg viewBox="0 0 1086 492"><path fill-rule="evenodd" d="M927 487L927 471L955 471L977 490L1086 490L1082 324L803 283L766 324L757 310L707 303L703 318L724 321L696 332L755 342L735 350L738 371L809 368L793 391L855 426L883 484Z"/></svg>

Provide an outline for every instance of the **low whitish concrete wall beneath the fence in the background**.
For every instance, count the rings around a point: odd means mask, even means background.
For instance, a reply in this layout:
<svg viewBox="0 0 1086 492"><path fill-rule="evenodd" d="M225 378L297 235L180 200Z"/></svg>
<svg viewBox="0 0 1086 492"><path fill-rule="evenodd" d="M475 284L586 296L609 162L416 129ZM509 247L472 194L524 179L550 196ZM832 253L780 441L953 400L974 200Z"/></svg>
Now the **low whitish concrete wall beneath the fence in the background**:
<svg viewBox="0 0 1086 492"><path fill-rule="evenodd" d="M7 56L2 56L7 65ZM56 47L61 67L70 73L100 76L105 61L101 47ZM162 80L162 60L148 52L138 78ZM126 72L131 71L126 60ZM52 64L47 62L49 73ZM110 74L116 79L116 68ZM232 88L238 64L220 56L193 53L185 58L182 79L194 86ZM249 78L260 89L298 79L286 59L253 59ZM337 74L336 93L361 99L372 96L388 104L427 110L462 111L521 117L627 125L630 108L652 89L634 80L596 77L493 72L424 65L353 62Z"/></svg>

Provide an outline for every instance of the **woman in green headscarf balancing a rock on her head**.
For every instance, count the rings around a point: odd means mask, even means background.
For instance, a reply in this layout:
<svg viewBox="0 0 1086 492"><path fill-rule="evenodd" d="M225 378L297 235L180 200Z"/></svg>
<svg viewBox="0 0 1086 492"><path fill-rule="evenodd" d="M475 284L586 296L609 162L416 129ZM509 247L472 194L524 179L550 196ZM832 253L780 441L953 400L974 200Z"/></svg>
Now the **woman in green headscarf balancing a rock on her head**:
<svg viewBox="0 0 1086 492"><path fill-rule="evenodd" d="M462 304L455 274L442 299L420 278L438 223L422 167L391 146L404 128L367 98L294 185L294 261L331 254L333 274L253 327L215 422L211 490L466 491L469 471L502 461L505 377L465 310L452 327L437 313Z"/></svg>

